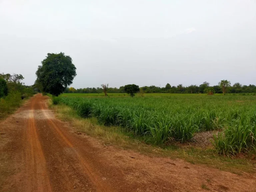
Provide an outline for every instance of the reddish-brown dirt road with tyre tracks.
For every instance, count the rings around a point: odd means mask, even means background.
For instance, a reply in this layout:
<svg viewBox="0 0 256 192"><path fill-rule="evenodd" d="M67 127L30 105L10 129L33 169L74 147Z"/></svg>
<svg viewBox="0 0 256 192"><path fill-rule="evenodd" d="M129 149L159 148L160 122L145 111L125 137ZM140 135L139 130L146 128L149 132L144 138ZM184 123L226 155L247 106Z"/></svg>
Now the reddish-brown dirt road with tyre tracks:
<svg viewBox="0 0 256 192"><path fill-rule="evenodd" d="M47 99L0 123L0 191L256 191L254 176L106 148L55 119Z"/></svg>

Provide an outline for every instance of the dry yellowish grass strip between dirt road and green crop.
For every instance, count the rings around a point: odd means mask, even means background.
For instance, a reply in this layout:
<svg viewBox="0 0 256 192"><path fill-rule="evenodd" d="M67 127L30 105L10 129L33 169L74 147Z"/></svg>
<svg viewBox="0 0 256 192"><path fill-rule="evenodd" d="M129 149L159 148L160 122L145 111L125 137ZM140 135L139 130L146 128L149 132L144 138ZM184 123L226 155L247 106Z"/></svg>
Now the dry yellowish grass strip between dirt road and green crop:
<svg viewBox="0 0 256 192"><path fill-rule="evenodd" d="M187 144L180 145L153 145L146 144L140 137L136 137L133 132L117 126L104 126L96 118L82 118L75 110L64 104L53 105L49 99L51 107L56 117L71 122L77 132L99 138L105 144L113 144L115 147L134 150L148 156L168 157L171 159L184 159L192 164L203 164L209 167L218 168L224 171L241 175L243 172L255 173L255 157L250 158L240 155L223 156L214 149L202 149L200 147L188 147ZM144 138L145 139L145 138ZM248 154L247 154L248 155Z"/></svg>

